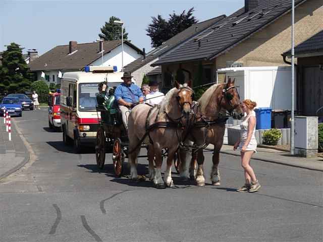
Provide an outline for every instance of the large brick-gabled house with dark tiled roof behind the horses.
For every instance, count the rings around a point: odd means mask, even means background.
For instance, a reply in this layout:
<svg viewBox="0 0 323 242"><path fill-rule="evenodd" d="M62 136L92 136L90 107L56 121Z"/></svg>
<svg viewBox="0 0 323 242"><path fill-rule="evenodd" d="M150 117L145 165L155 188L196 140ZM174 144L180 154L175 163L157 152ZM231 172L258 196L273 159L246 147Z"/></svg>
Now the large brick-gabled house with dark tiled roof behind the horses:
<svg viewBox="0 0 323 242"><path fill-rule="evenodd" d="M323 29L322 6L323 1L295 0L296 44ZM194 86L224 82L225 76L239 70L242 73L239 85L244 94L241 96L255 97L256 102L261 102L261 94L267 93L266 104L272 106L274 89L281 96L280 85L287 88L283 90L284 95L288 95L291 87L291 75L287 75L291 72L290 65L281 56L291 46L291 10L291 0L245 0L244 8L181 44L152 66L161 66L164 83L173 82L176 76L182 81L192 78ZM275 75L280 69L280 83L276 83ZM226 75L228 72L230 75ZM263 77L267 73L272 77L266 86ZM249 83L250 77L252 83ZM244 84L249 85L248 89ZM254 96L255 92L259 95ZM276 103L282 102L276 100Z"/></svg>

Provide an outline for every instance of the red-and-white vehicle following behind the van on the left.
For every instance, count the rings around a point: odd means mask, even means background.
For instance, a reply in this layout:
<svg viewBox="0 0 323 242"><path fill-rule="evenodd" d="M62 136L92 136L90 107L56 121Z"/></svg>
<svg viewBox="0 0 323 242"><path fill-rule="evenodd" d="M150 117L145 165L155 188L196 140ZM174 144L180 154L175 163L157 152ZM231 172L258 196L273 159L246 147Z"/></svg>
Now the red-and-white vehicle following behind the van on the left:
<svg viewBox="0 0 323 242"><path fill-rule="evenodd" d="M48 97L48 126L50 129L61 129L61 93L55 92Z"/></svg>

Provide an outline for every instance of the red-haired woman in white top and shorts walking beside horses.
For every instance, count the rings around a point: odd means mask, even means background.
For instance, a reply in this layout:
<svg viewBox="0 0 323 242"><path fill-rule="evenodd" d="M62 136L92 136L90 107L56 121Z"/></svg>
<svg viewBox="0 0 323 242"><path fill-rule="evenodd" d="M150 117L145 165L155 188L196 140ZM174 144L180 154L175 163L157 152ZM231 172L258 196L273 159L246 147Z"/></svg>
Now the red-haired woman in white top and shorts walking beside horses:
<svg viewBox="0 0 323 242"><path fill-rule="evenodd" d="M253 153L257 152L257 141L254 136L256 129L256 114L254 108L257 104L250 99L246 99L242 102L242 110L245 112L245 116L240 124L240 139L235 143L233 149L236 150L239 147L241 154L241 165L244 169L245 184L237 189L238 192L253 193L259 190L261 187L256 175L250 166L250 159Z"/></svg>

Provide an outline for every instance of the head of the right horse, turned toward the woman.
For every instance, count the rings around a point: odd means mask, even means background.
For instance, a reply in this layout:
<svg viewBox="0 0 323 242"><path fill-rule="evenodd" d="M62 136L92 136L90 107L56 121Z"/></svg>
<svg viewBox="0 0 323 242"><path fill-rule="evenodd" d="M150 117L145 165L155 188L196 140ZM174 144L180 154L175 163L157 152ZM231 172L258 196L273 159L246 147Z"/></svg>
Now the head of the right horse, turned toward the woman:
<svg viewBox="0 0 323 242"><path fill-rule="evenodd" d="M241 107L240 96L234 85L235 79L231 81L228 79L228 83L222 90L221 106L227 109L235 119L241 119L243 117L243 110Z"/></svg>

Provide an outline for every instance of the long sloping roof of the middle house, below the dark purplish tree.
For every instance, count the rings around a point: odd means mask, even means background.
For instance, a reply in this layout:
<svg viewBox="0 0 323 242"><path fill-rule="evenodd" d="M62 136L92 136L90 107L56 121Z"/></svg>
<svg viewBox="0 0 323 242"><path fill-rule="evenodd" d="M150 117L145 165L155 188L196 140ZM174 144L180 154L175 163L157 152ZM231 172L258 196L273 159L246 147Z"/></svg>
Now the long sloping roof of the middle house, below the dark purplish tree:
<svg viewBox="0 0 323 242"><path fill-rule="evenodd" d="M158 56L166 53L167 51L174 48L176 45L182 43L183 41L187 40L188 38L198 34L199 32L205 30L209 26L213 25L214 23L219 22L220 20L224 19L225 15L221 15L216 18L212 18L203 22L199 22L197 24L193 24L191 27L185 29L181 33L175 35L174 37L170 38L169 40L165 41L162 45L156 47L155 49L151 50L146 54L146 58L140 57L133 61L132 63L128 64L124 67L125 71L134 72L139 68L143 67L144 65L148 64L149 62L156 59Z"/></svg>

